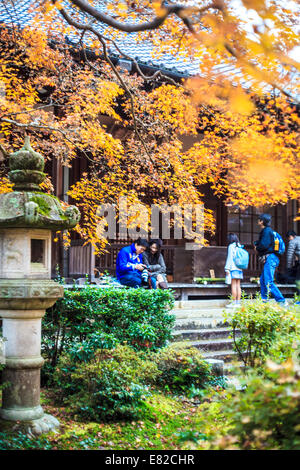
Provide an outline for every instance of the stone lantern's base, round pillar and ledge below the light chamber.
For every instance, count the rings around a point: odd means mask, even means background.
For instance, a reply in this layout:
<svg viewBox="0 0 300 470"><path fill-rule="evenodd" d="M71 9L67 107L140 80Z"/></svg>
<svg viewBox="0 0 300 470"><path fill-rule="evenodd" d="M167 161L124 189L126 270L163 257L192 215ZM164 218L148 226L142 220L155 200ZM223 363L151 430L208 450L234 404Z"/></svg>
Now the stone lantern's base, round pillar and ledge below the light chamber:
<svg viewBox="0 0 300 470"><path fill-rule="evenodd" d="M39 435L59 428L40 405L41 320L46 308L63 296L51 280L0 279L0 317L5 339L0 428Z"/></svg>

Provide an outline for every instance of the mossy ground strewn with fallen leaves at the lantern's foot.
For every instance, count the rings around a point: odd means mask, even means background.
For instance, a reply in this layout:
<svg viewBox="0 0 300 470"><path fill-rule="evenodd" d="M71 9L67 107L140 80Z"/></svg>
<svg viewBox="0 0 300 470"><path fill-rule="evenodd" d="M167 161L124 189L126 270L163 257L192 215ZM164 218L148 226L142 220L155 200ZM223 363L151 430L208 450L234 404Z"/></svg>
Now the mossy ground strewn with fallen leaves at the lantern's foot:
<svg viewBox="0 0 300 470"><path fill-rule="evenodd" d="M198 431L203 429L201 410L186 397L153 392L138 419L109 423L74 419L67 407L53 406L46 390L42 391L42 405L47 413L59 419L60 433L34 439L22 433L14 436L1 433L1 450L180 450L195 447L198 437L206 439ZM221 426L224 427L224 420L220 420L217 413L214 416L216 419L211 429L217 432Z"/></svg>

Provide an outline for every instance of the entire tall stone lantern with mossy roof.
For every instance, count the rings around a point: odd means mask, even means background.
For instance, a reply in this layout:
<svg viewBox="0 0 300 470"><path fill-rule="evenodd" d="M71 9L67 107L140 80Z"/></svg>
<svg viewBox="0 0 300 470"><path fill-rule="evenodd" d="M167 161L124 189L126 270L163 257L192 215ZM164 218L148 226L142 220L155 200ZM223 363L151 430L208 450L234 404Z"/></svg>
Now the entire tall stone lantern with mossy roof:
<svg viewBox="0 0 300 470"><path fill-rule="evenodd" d="M53 430L59 422L40 406L41 319L63 297L51 280L51 231L75 227L79 210L65 210L42 192L44 158L26 137L9 156L14 191L0 195L0 317L5 338L5 368L0 419L20 422L32 434Z"/></svg>

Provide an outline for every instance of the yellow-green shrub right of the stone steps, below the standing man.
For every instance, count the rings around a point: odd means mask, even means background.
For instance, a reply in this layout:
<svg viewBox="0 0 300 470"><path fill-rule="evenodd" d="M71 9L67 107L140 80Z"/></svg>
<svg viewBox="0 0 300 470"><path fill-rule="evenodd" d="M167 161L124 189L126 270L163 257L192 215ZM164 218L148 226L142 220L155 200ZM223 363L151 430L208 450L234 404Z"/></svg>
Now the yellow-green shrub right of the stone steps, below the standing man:
<svg viewBox="0 0 300 470"><path fill-rule="evenodd" d="M259 299L242 302L239 309L226 312L225 318L232 327L234 349L239 359L250 367L262 366L275 342L279 338L289 341L297 335L299 328L293 309L288 311L278 304L263 303Z"/></svg>

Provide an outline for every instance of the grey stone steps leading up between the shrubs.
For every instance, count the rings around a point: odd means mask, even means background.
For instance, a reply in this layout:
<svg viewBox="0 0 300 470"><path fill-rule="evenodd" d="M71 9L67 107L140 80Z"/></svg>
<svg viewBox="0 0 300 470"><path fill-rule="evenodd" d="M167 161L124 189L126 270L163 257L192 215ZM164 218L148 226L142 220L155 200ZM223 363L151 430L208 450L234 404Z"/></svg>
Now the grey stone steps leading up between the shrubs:
<svg viewBox="0 0 300 470"><path fill-rule="evenodd" d="M173 341L188 341L203 352L211 363L223 361L224 373L230 373L237 361L231 329L224 321L228 300L180 300L172 313L176 316ZM219 363L220 366L221 362Z"/></svg>

